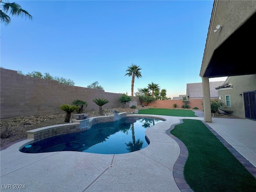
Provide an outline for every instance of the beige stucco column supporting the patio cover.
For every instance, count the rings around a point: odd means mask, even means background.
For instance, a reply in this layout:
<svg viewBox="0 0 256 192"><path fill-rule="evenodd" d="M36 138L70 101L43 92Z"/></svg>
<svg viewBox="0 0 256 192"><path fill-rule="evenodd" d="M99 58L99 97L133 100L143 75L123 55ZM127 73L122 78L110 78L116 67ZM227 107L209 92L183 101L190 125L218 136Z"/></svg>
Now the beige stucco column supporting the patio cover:
<svg viewBox="0 0 256 192"><path fill-rule="evenodd" d="M204 121L212 122L209 78L202 77L204 99Z"/></svg>

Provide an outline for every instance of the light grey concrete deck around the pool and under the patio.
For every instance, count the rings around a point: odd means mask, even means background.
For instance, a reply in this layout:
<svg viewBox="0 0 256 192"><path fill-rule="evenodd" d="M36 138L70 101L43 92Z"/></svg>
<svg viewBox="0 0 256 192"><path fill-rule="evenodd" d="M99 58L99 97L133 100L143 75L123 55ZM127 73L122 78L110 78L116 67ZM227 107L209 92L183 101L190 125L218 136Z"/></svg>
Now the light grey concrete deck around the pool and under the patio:
<svg viewBox="0 0 256 192"><path fill-rule="evenodd" d="M13 144L0 152L1 191L17 191L14 189L15 184L25 185L22 191L26 192L191 191L183 178L174 179L176 173L180 174L179 164L175 163L182 156L182 147L166 134L166 130L180 123L180 119L204 119L158 117L166 121L146 130L150 145L127 154L70 151L26 154L18 149L27 140ZM256 166L256 121L212 118L212 123L207 124ZM8 188L8 185L12 189L3 189Z"/></svg>

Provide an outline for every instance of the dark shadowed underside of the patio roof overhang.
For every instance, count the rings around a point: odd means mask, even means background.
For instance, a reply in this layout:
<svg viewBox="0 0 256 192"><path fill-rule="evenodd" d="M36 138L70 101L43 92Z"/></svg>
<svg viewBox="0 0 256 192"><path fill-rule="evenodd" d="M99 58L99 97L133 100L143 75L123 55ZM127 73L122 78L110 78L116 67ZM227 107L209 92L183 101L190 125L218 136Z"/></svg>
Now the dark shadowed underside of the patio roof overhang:
<svg viewBox="0 0 256 192"><path fill-rule="evenodd" d="M202 76L213 78L256 74L255 24L256 13L216 48Z"/></svg>

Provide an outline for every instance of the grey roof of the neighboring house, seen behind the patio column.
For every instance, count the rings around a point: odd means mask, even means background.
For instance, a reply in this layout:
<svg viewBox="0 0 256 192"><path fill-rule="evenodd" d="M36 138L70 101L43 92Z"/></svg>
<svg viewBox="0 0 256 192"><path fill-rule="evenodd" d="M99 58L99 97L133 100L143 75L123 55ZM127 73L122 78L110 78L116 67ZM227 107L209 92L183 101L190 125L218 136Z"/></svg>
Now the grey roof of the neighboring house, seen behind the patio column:
<svg viewBox="0 0 256 192"><path fill-rule="evenodd" d="M218 98L218 91L216 87L222 86L225 81L209 82L210 85L210 98ZM203 86L202 83L188 83L187 84L187 96L189 99L203 98Z"/></svg>

